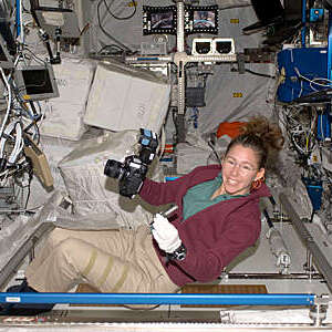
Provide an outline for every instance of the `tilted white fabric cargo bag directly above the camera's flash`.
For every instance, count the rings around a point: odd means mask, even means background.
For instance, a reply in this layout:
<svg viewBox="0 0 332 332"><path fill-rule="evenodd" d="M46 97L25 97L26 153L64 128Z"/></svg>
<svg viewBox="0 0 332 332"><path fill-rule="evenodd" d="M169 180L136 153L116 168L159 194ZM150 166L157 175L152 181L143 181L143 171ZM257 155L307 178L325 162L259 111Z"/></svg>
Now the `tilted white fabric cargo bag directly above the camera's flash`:
<svg viewBox="0 0 332 332"><path fill-rule="evenodd" d="M159 133L170 84L155 73L122 63L97 65L84 123L110 129L146 128Z"/></svg>

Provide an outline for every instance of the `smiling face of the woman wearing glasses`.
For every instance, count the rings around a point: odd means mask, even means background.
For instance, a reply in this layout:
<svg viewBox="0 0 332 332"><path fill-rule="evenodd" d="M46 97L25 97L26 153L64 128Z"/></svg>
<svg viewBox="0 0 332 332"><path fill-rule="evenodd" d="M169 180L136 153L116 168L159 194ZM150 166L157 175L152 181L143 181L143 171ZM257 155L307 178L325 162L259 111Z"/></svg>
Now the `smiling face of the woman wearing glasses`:
<svg viewBox="0 0 332 332"><path fill-rule="evenodd" d="M264 168L259 169L258 162L252 148L235 145L222 159L221 194L248 194L252 181L264 175Z"/></svg>

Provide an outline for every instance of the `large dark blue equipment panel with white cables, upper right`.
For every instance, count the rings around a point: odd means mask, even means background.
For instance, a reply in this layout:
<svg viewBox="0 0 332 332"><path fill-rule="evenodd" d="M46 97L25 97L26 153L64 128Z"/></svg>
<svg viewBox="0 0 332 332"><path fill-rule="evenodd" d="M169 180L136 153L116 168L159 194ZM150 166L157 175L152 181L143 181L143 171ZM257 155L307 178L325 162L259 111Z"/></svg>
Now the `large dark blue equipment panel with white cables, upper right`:
<svg viewBox="0 0 332 332"><path fill-rule="evenodd" d="M289 103L309 93L326 89L315 83L317 79L328 79L328 49L326 48L299 48L286 49L277 55L280 84L277 98ZM310 82L315 80L314 82Z"/></svg>

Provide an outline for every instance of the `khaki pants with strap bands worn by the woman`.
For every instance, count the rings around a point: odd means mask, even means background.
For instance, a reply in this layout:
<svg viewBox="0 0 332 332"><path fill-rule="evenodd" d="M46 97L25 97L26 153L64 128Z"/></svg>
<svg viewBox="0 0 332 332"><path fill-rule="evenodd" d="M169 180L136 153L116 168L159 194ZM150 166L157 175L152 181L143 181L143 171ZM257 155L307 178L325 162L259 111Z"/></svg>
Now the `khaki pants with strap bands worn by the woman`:
<svg viewBox="0 0 332 332"><path fill-rule="evenodd" d="M28 283L41 292L66 292L87 282L101 292L176 292L146 226L77 231L55 228L28 267Z"/></svg>

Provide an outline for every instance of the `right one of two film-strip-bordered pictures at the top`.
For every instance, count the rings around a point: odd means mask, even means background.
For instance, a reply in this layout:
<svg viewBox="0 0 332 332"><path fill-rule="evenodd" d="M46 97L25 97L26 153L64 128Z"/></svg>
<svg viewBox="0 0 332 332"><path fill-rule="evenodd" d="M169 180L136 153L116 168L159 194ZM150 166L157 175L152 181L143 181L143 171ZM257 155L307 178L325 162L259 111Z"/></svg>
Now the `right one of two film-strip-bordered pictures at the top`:
<svg viewBox="0 0 332 332"><path fill-rule="evenodd" d="M218 34L218 6L186 6L185 32Z"/></svg>

